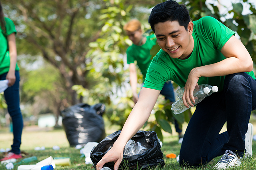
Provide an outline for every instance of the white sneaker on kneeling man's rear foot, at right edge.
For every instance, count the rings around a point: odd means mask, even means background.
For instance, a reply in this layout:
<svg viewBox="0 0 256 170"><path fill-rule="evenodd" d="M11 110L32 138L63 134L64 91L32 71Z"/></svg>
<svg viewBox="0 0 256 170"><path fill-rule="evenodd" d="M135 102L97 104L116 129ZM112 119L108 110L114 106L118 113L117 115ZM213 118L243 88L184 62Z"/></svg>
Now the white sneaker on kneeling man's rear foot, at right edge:
<svg viewBox="0 0 256 170"><path fill-rule="evenodd" d="M245 158L249 158L252 156L252 139L253 139L253 125L251 123L248 124L248 130L245 134Z"/></svg>

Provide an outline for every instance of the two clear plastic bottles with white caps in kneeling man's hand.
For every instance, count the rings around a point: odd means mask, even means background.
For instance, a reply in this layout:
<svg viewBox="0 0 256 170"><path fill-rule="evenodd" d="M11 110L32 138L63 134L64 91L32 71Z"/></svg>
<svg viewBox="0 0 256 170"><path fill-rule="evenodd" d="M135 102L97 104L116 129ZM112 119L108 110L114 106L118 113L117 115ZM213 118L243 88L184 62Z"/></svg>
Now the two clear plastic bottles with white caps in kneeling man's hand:
<svg viewBox="0 0 256 170"><path fill-rule="evenodd" d="M181 89L181 90L180 90ZM182 96L184 93L184 88L180 88L177 90L177 97L180 98L180 100L176 101L175 103L172 104L172 111L174 114L180 114L184 111L186 111L187 109L191 108L191 106L189 105L189 108L185 107L183 100L182 100ZM207 85L207 84L203 84L203 85L199 85L195 88L194 90L194 98L195 98L195 104L200 103L202 100L204 100L204 98L206 96L210 96L213 92L218 92L218 87L217 86L211 86L211 85Z"/></svg>

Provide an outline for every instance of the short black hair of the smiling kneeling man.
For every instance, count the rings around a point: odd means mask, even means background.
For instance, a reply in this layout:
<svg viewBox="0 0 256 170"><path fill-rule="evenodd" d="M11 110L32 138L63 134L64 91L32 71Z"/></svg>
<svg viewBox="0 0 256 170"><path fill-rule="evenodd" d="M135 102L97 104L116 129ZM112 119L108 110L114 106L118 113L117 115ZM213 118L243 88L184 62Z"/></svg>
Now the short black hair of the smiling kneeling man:
<svg viewBox="0 0 256 170"><path fill-rule="evenodd" d="M188 30L188 23L191 21L186 5L180 5L176 1L169 0L155 5L148 18L152 30L155 32L155 24L177 21L180 26Z"/></svg>

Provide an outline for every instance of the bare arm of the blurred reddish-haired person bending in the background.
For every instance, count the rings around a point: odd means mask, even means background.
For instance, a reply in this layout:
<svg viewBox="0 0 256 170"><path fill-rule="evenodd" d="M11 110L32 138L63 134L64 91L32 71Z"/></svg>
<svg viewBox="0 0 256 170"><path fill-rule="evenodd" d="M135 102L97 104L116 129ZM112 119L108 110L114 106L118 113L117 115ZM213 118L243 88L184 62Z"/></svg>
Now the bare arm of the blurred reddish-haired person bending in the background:
<svg viewBox="0 0 256 170"><path fill-rule="evenodd" d="M130 63L129 70L130 70L130 84L132 87L133 102L134 104L136 104L139 98L137 93L138 77L136 72L136 65L134 63Z"/></svg>

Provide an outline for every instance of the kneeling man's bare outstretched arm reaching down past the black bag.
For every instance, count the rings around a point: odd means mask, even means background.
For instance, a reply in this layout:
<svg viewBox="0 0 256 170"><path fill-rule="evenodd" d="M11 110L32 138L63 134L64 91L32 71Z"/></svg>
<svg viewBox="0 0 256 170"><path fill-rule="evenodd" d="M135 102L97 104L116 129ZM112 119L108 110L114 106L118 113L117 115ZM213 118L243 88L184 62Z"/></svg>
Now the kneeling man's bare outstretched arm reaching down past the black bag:
<svg viewBox="0 0 256 170"><path fill-rule="evenodd" d="M123 160L123 152L126 143L147 121L155 103L157 102L159 93L159 90L142 88L139 100L133 107L128 119L125 121L121 134L113 144L113 147L97 163L97 170L100 170L105 163L112 161L115 163L114 170L118 169Z"/></svg>

